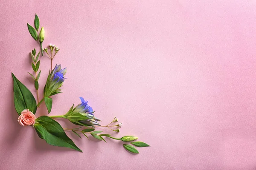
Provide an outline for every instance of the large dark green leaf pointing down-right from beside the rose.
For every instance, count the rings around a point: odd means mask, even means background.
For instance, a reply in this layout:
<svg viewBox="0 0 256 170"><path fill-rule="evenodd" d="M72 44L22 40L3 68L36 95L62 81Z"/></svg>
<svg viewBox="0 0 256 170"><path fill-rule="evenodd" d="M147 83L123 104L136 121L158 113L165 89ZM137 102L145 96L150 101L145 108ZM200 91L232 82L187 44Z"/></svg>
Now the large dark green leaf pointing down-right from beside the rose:
<svg viewBox="0 0 256 170"><path fill-rule="evenodd" d="M61 125L48 116L40 116L34 125L35 131L48 144L60 147L69 147L82 152L79 147L66 135Z"/></svg>

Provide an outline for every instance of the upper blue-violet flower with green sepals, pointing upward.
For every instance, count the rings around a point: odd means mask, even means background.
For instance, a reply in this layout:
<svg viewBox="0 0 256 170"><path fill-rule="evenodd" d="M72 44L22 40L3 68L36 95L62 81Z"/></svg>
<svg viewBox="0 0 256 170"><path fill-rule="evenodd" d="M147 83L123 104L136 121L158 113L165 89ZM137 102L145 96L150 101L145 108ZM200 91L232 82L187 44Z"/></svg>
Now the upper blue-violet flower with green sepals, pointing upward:
<svg viewBox="0 0 256 170"><path fill-rule="evenodd" d="M48 75L47 82L45 85L45 90L44 90L44 96L49 97L54 94L61 93L61 89L59 88L62 86L64 79L66 79L64 77L66 72L67 72L67 68L61 69L61 65L57 65L57 64L55 65L52 72L50 72Z"/></svg>

